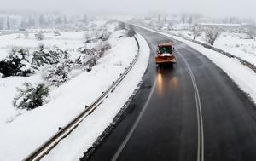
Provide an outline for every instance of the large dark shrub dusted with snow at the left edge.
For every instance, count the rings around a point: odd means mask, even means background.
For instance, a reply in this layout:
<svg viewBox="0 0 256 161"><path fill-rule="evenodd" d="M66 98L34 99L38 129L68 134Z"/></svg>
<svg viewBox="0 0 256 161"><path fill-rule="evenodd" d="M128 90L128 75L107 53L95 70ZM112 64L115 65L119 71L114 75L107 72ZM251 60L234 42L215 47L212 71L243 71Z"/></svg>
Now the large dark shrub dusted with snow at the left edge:
<svg viewBox="0 0 256 161"><path fill-rule="evenodd" d="M27 76L36 70L38 67L32 64L28 49L13 47L9 56L0 61L0 72L4 77Z"/></svg>

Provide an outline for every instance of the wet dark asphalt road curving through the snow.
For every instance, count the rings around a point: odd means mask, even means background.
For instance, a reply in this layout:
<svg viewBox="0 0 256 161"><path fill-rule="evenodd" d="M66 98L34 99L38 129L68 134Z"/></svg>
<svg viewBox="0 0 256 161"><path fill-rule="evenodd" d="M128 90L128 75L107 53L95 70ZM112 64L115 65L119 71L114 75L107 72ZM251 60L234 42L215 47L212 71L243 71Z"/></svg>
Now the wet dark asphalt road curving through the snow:
<svg viewBox="0 0 256 161"><path fill-rule="evenodd" d="M171 39L136 29L151 49L143 84L89 160L255 161L253 102L211 60L183 43L174 41L177 64L158 68L156 44Z"/></svg>

